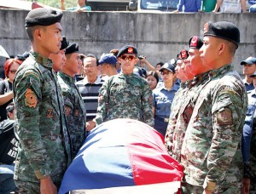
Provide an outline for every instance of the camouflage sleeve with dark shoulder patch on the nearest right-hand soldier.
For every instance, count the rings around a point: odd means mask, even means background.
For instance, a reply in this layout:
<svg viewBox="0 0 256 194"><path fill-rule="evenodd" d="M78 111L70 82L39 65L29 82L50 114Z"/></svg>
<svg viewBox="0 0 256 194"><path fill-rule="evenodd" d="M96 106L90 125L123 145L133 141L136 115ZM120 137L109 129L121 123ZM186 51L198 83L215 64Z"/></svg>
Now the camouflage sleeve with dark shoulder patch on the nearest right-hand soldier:
<svg viewBox="0 0 256 194"><path fill-rule="evenodd" d="M222 181L230 169L230 163L241 142L241 130L247 106L243 92L235 86L225 86L219 88L212 97L213 137L207 157L208 173L205 181Z"/></svg>

